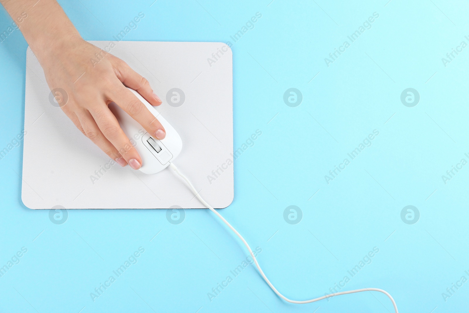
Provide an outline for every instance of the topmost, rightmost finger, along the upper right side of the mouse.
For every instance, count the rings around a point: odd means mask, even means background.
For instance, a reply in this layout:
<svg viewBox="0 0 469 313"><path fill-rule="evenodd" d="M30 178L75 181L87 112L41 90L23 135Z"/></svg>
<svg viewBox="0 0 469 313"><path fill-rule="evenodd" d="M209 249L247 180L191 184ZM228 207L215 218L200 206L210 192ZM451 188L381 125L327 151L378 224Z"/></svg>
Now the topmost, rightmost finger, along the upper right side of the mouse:
<svg viewBox="0 0 469 313"><path fill-rule="evenodd" d="M150 83L136 71L131 69L126 62L120 60L115 64L117 68L117 78L127 87L137 91L152 106L159 106L162 102L156 93L151 89Z"/></svg>

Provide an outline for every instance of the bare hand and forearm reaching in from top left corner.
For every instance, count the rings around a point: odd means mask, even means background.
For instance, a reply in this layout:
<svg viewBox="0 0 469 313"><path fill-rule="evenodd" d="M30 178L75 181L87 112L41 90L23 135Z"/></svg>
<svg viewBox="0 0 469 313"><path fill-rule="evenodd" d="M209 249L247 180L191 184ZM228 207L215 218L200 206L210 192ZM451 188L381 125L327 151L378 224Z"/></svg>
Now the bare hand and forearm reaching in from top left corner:
<svg viewBox="0 0 469 313"><path fill-rule="evenodd" d="M152 136L163 139L163 126L126 88L136 90L152 106L159 106L161 100L148 81L121 59L84 41L56 0L0 3L38 58L51 91L61 88L67 93L66 104L64 98L56 97L62 111L111 159L121 166L140 168L142 159L108 104L115 102ZM98 63L91 62L96 60L95 53L104 56Z"/></svg>

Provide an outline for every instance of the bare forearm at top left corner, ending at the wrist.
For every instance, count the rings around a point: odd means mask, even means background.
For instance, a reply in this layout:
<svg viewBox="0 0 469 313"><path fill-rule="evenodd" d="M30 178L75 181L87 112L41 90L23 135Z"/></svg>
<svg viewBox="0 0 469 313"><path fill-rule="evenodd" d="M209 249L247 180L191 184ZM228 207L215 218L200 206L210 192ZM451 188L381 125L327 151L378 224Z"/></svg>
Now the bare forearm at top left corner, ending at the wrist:
<svg viewBox="0 0 469 313"><path fill-rule="evenodd" d="M58 47L73 48L80 34L56 0L0 0L20 27L24 38L39 61L51 56ZM42 62L41 62L42 63Z"/></svg>

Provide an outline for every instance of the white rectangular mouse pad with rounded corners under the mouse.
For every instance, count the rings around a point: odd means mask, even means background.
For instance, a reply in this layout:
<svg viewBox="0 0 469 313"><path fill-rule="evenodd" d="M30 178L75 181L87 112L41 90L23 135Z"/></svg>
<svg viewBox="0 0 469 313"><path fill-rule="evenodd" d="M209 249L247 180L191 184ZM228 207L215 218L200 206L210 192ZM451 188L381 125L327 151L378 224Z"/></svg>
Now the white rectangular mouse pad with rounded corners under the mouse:
<svg viewBox="0 0 469 313"><path fill-rule="evenodd" d="M174 164L213 207L230 205L235 159L231 50L209 42L90 42L149 80L163 101L157 110L182 138ZM216 61L212 53L218 53ZM204 208L172 170L146 175L122 168L83 136L54 101L30 48L24 130L22 200L31 209Z"/></svg>

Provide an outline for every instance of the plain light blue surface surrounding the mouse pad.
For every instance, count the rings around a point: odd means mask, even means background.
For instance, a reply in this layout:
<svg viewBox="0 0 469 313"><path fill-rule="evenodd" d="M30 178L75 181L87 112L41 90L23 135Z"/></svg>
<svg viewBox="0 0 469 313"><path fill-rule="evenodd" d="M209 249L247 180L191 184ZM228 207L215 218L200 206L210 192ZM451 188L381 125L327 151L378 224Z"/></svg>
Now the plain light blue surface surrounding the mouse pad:
<svg viewBox="0 0 469 313"><path fill-rule="evenodd" d="M469 278L469 166L446 184L442 176L469 161L469 48L446 67L442 58L469 43L469 5L270 1L60 2L87 40L110 40L144 12L126 40L233 43L260 12L232 47L234 148L257 129L262 135L235 161L234 201L221 213L262 249L260 264L289 298L324 295L348 276L342 290L382 288L400 312L466 310L469 282L451 294L446 288ZM379 17L352 43L347 36L373 12ZM3 31L12 21L0 14ZM23 130L26 47L20 31L0 43L0 149ZM284 103L288 88L301 91L301 105ZM406 88L420 95L414 107L401 102ZM373 130L371 146L351 160L347 153ZM166 210L68 211L56 225L49 211L21 202L22 153L20 145L0 160L0 266L27 249L0 277L0 312L392 312L376 292L293 305L253 266L234 277L247 252L206 210L186 210L179 225ZM345 158L350 164L326 183ZM303 212L294 225L283 218L291 205ZM408 205L420 213L414 224L401 219ZM136 264L113 274L139 247ZM371 263L351 277L374 247ZM90 293L111 275L93 301ZM233 281L210 301L227 276Z"/></svg>

